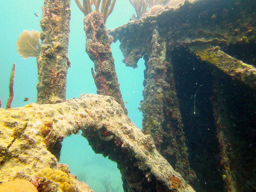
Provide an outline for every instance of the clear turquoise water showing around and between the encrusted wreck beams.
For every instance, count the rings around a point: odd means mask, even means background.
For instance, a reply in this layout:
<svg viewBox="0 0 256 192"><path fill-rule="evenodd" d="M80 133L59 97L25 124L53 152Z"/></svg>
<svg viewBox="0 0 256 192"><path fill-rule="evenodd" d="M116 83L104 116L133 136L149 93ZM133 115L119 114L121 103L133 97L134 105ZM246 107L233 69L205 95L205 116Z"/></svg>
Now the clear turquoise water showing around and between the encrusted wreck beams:
<svg viewBox="0 0 256 192"><path fill-rule="evenodd" d="M6 107L9 97L9 78L12 63L16 63L14 78L14 99L12 108L36 102L37 67L36 58L22 59L16 51L16 40L23 30L40 31L43 0L10 0L2 1L0 6L0 98L2 107ZM38 17L34 13L38 13ZM129 21L134 9L129 1L116 2L114 11L109 16L106 27L115 28ZM71 1L71 21L69 39L69 59L71 68L68 69L66 98L77 98L81 93L96 94L91 68L93 62L85 52L85 34L83 26L83 13L77 8L75 1ZM138 110L142 97L142 82L144 80L144 61L140 60L138 68L128 68L122 63L123 55L119 50L119 42L111 45L115 59L116 72L120 83L125 107L129 117L141 128L142 114ZM29 101L24 102L28 97ZM116 163L111 162L102 155L96 155L88 142L80 134L66 138L62 143L60 163L68 164L71 173L86 174L86 183L95 192L104 192L101 180L108 177L113 188L122 185L121 174ZM81 176L81 174L80 174ZM78 178L79 179L79 178ZM121 188L122 189L122 188ZM122 190L119 191L122 191Z"/></svg>

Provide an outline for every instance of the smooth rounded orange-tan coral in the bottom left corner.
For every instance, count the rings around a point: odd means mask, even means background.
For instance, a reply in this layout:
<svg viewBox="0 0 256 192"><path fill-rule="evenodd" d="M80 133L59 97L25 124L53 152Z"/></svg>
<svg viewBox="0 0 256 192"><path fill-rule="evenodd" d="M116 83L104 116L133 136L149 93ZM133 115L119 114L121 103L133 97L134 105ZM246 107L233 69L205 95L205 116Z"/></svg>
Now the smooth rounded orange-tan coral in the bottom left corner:
<svg viewBox="0 0 256 192"><path fill-rule="evenodd" d="M38 192L28 180L16 179L0 185L1 192Z"/></svg>

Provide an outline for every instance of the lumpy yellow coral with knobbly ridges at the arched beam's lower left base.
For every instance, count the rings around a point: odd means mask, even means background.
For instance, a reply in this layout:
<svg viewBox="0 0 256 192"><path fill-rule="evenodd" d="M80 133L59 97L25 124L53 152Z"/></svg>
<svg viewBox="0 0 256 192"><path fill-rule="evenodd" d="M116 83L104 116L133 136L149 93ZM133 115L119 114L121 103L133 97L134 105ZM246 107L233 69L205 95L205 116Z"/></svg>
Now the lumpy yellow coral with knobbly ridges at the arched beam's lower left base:
<svg viewBox="0 0 256 192"><path fill-rule="evenodd" d="M52 180L60 185L62 192L75 192L74 179L69 177L67 173L58 169L52 170L50 167L44 168L36 173L37 177Z"/></svg>

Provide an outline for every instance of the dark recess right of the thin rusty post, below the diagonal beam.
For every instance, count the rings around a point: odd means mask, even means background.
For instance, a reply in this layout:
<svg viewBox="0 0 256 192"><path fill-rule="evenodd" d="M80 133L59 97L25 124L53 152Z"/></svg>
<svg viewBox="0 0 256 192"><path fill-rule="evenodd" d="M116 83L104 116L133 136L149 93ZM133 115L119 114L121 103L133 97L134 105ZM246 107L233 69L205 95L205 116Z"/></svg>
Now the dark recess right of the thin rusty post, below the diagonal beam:
<svg viewBox="0 0 256 192"><path fill-rule="evenodd" d="M216 91L219 120L224 126L221 131L234 183L238 191L253 192L256 190L255 92L220 71L217 71Z"/></svg>

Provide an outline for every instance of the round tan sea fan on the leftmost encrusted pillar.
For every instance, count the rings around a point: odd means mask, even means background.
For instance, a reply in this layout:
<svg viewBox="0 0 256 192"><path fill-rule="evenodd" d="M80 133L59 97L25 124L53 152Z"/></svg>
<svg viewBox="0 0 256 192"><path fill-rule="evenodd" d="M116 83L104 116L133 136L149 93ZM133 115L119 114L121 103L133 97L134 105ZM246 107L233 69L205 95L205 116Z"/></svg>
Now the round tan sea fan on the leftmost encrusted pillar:
<svg viewBox="0 0 256 192"><path fill-rule="evenodd" d="M16 41L18 54L23 59L29 57L38 57L41 51L39 42L40 32L24 30L20 33L19 39Z"/></svg>

